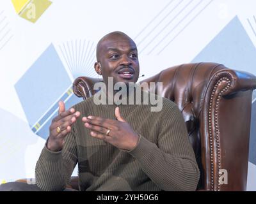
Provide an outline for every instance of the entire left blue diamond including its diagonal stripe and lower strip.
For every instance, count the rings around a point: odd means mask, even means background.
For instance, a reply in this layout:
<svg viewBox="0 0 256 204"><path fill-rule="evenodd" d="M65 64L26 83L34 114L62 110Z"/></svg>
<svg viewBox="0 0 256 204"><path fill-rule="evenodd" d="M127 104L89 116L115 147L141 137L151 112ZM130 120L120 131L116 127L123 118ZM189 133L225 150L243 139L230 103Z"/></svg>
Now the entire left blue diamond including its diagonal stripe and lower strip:
<svg viewBox="0 0 256 204"><path fill-rule="evenodd" d="M49 136L49 122L58 110L58 101L68 106L81 99L72 93L72 80L53 45L50 45L15 84L22 108L32 131Z"/></svg>

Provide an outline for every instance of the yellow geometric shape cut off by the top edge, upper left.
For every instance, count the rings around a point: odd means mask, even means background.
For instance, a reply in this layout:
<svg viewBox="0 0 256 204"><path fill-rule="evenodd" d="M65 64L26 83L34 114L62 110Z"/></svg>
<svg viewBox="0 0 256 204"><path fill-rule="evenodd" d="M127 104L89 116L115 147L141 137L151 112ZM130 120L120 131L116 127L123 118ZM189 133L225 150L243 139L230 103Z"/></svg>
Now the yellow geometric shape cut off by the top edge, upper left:
<svg viewBox="0 0 256 204"><path fill-rule="evenodd" d="M20 17L35 23L52 4L49 0L12 0Z"/></svg>

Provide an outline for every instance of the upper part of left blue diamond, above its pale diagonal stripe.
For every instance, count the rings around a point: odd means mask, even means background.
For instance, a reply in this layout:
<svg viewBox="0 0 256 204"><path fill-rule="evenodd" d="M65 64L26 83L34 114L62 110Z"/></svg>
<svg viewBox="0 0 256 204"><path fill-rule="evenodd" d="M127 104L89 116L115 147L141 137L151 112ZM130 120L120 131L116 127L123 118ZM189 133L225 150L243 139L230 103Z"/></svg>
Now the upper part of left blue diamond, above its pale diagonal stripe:
<svg viewBox="0 0 256 204"><path fill-rule="evenodd" d="M60 57L50 45L15 84L29 125L35 124L70 84Z"/></svg>

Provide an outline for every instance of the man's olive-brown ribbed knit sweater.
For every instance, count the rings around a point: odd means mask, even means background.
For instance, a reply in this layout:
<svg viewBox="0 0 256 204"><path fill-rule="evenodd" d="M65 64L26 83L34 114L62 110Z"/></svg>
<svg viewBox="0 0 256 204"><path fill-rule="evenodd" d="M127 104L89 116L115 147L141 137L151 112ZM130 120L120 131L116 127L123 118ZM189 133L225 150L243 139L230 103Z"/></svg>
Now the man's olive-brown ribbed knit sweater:
<svg viewBox="0 0 256 204"><path fill-rule="evenodd" d="M92 96L74 106L81 112L59 152L45 146L36 163L36 184L61 191L78 163L81 191L195 191L199 170L179 108L163 98L163 109L151 105L95 105ZM115 107L140 135L134 149L120 150L90 136L82 117L115 120Z"/></svg>

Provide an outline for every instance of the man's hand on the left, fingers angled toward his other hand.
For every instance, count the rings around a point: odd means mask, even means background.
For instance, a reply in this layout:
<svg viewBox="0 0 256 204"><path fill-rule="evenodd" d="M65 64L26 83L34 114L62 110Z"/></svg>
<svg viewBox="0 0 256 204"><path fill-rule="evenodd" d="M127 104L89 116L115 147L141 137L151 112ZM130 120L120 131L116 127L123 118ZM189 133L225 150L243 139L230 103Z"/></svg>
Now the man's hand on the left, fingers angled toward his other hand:
<svg viewBox="0 0 256 204"><path fill-rule="evenodd" d="M58 152L63 148L64 138L71 131L71 126L81 115L74 108L65 111L65 103L59 102L59 115L52 120L47 149Z"/></svg>

